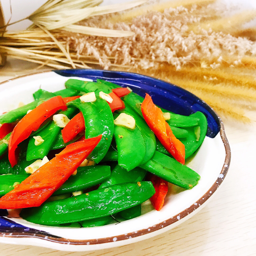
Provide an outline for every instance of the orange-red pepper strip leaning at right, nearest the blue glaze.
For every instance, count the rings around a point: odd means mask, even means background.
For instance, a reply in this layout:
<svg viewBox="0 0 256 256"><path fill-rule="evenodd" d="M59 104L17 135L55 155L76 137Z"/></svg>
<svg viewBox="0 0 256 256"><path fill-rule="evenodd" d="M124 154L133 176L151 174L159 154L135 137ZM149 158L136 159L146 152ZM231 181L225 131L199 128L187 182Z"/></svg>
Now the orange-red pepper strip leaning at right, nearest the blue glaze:
<svg viewBox="0 0 256 256"><path fill-rule="evenodd" d="M185 164L185 146L173 134L170 126L165 121L163 112L146 93L141 104L142 115L165 149L180 163Z"/></svg>

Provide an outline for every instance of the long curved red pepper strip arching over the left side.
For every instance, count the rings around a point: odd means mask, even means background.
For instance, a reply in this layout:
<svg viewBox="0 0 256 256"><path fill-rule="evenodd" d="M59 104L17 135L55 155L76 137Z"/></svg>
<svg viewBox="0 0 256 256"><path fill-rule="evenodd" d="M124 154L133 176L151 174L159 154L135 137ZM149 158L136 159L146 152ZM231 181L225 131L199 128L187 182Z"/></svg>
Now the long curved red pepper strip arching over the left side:
<svg viewBox="0 0 256 256"><path fill-rule="evenodd" d="M60 109L66 110L67 106L61 96L56 96L41 103L17 123L10 136L8 146L8 157L12 167L18 161L18 154L15 152L18 144L26 140L31 132L36 131L47 118Z"/></svg>

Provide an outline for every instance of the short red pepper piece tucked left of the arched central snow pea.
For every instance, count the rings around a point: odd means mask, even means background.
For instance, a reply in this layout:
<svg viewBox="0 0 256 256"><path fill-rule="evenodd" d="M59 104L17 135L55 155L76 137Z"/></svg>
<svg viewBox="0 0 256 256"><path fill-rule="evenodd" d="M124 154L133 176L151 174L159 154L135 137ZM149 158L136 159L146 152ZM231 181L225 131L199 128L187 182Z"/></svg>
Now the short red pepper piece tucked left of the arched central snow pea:
<svg viewBox="0 0 256 256"><path fill-rule="evenodd" d="M75 115L67 125L61 130L62 138L65 143L73 140L77 134L85 130L83 114L80 112Z"/></svg>

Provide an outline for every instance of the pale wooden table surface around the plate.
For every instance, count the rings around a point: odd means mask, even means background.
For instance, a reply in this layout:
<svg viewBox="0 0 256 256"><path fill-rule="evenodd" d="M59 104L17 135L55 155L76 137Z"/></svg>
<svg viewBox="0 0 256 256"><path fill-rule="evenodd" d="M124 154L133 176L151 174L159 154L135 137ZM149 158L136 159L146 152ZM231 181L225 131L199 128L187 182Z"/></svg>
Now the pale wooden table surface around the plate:
<svg viewBox="0 0 256 256"><path fill-rule="evenodd" d="M10 61L0 70L0 82L14 77L21 65L23 69L33 67L27 62ZM1 71L13 73L3 76ZM65 252L1 243L0 256L255 255L256 111L251 111L248 115L254 120L250 124L223 119L231 147L228 174L208 204L176 228L134 244L91 252Z"/></svg>

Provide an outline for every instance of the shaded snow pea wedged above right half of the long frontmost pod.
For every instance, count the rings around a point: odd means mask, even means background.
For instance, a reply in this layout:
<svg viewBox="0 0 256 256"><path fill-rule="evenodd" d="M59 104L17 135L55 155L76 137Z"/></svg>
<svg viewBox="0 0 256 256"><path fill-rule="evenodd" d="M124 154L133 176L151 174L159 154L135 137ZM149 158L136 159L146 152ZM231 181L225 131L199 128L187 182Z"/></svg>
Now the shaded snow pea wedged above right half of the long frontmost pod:
<svg viewBox="0 0 256 256"><path fill-rule="evenodd" d="M144 179L147 171L140 168L135 167L129 172L120 165L116 165L114 170L111 172L110 177L103 182L99 188L108 187L111 185L126 183L126 182L140 182Z"/></svg>

